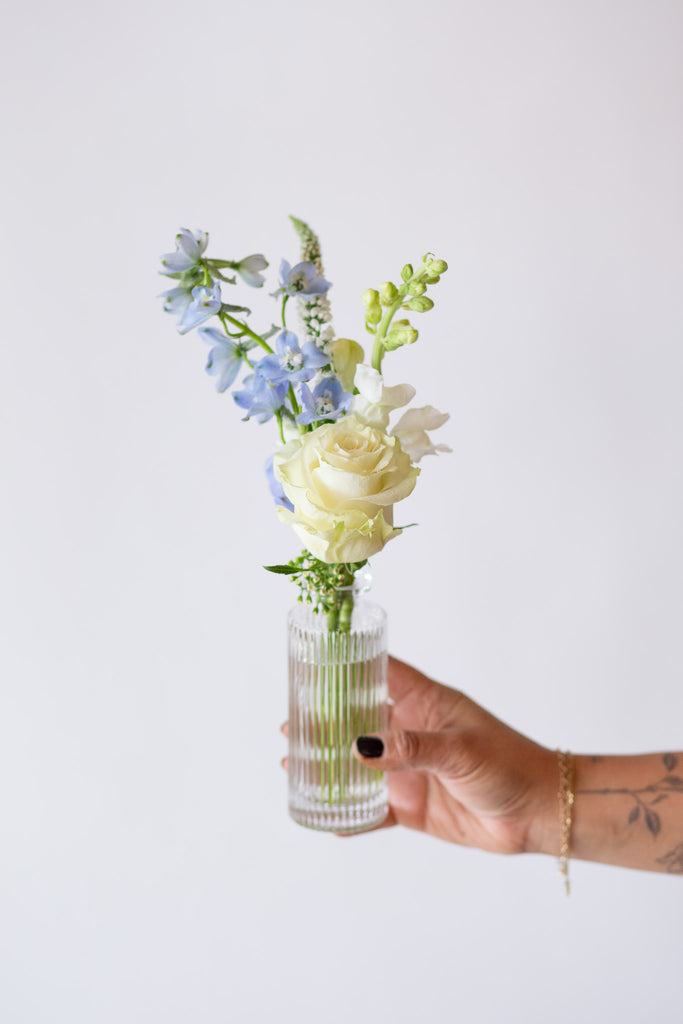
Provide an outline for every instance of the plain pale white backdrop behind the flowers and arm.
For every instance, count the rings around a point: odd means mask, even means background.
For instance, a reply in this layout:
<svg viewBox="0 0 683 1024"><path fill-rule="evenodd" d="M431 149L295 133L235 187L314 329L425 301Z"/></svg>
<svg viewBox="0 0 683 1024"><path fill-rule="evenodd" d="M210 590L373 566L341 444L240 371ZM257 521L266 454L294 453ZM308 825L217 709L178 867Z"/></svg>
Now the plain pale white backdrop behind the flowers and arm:
<svg viewBox="0 0 683 1024"><path fill-rule="evenodd" d="M3 1022L676 1011L678 879L290 823L273 435L155 296L179 225L274 271L293 213L362 340L446 258L386 364L454 447L375 560L392 649L680 749L683 4L34 0L0 47Z"/></svg>

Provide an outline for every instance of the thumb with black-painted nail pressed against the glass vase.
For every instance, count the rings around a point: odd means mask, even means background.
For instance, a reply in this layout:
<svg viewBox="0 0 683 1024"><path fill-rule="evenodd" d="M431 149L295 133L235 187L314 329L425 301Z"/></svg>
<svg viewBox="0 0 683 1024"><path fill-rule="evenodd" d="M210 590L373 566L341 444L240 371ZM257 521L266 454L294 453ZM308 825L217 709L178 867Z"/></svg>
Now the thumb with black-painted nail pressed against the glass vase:
<svg viewBox="0 0 683 1024"><path fill-rule="evenodd" d="M447 731L402 729L358 736L352 751L358 761L378 771L445 771L455 767L456 746L453 733Z"/></svg>

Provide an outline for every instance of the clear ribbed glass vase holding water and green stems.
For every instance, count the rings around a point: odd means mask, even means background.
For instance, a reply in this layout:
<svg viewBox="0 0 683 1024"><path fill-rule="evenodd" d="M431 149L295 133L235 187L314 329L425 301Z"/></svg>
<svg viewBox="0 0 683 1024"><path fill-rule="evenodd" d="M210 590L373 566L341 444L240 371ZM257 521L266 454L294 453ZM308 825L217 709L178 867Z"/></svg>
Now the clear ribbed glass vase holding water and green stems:
<svg viewBox="0 0 683 1024"><path fill-rule="evenodd" d="M356 736L387 727L386 613L364 595L370 573L297 603L289 633L290 814L331 833L374 828L388 813L384 775L351 753Z"/></svg>

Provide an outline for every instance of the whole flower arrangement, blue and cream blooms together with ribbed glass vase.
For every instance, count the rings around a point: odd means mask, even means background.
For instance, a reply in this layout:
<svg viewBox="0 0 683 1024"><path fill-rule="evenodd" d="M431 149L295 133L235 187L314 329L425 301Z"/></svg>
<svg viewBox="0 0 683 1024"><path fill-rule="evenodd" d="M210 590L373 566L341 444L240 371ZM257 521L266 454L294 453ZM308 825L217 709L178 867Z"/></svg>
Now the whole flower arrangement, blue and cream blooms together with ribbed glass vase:
<svg viewBox="0 0 683 1024"><path fill-rule="evenodd" d="M415 388L385 384L382 360L417 340L398 313L431 309L427 290L447 267L427 254L416 267L403 266L398 284L368 289L367 362L356 341L335 335L318 240L292 221L301 260L280 265L278 326L255 331L250 310L222 296L224 285L239 281L262 287L265 258L209 257L205 231L181 228L175 252L162 257L161 272L174 280L163 298L180 334L197 330L209 345L206 369L218 391L231 389L245 420L278 425L280 443L265 471L280 519L304 545L298 558L266 566L290 575L304 602L288 621L290 814L310 828L352 833L375 827L388 812L381 773L352 756L354 737L381 731L388 713L386 615L356 602L367 583L359 570L405 528L394 524L394 505L413 492L420 460L449 451L429 437L447 419L431 406L409 409L390 427ZM297 332L288 324L292 299Z"/></svg>

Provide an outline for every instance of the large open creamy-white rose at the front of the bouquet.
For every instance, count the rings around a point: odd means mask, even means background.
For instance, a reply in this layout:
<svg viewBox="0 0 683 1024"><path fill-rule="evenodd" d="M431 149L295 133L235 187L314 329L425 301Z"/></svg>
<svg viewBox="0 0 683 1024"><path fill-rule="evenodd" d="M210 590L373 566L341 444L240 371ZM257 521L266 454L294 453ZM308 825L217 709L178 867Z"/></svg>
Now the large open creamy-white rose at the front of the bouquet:
<svg viewBox="0 0 683 1024"><path fill-rule="evenodd" d="M392 507L420 470L397 438L349 415L286 444L274 472L294 505L278 515L308 551L325 562L356 562L401 532Z"/></svg>

